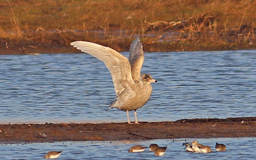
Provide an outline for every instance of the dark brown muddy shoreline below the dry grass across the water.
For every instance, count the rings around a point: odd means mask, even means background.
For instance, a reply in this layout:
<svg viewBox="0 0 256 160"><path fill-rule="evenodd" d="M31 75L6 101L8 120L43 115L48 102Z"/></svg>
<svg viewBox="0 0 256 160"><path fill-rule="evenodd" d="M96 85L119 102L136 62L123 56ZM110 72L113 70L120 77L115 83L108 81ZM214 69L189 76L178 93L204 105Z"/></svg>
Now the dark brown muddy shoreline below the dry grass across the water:
<svg viewBox="0 0 256 160"><path fill-rule="evenodd" d="M79 39L76 39L79 40ZM76 41L72 40L72 41ZM54 43L43 43L36 41L0 41L0 55L40 55L40 54L72 54L72 53L83 53L80 50L67 44L54 44ZM104 41L93 41L93 40L84 40L91 41L94 43L101 44L106 47L115 49L117 52L129 52L130 40L125 41L113 41L113 42L104 42ZM256 49L256 43L181 43L181 42L143 42L144 52L179 52L179 51L223 51L223 50L251 50ZM84 53L83 53L84 54Z"/></svg>

